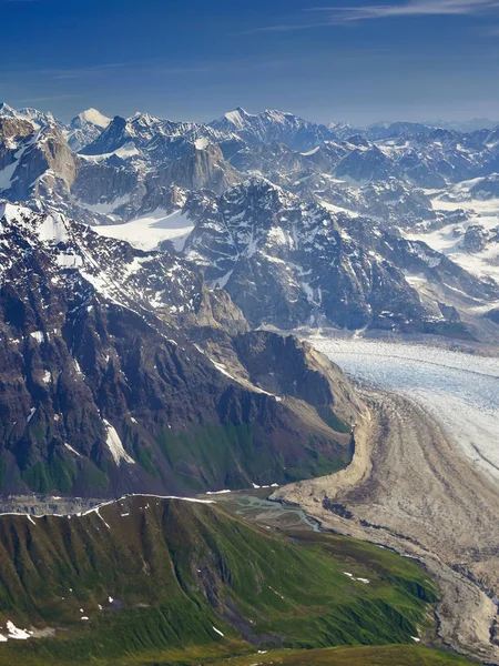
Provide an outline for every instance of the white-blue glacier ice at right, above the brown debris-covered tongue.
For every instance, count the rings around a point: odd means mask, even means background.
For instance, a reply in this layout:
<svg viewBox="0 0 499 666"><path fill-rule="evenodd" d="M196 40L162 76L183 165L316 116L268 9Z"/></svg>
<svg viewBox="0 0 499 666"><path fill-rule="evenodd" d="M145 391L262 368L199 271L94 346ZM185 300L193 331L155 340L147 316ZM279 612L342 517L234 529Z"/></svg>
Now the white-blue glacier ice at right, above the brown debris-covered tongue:
<svg viewBox="0 0 499 666"><path fill-rule="evenodd" d="M499 357L318 334L307 340L363 385L410 396L499 480Z"/></svg>

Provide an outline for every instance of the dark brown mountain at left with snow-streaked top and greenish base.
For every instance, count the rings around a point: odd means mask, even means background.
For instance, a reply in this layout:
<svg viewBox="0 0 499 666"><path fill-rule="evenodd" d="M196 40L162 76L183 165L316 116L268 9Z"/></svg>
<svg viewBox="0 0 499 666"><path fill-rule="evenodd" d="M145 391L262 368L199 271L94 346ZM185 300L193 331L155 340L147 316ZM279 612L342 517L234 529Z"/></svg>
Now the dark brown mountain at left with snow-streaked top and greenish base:
<svg viewBox="0 0 499 666"><path fill-rule="evenodd" d="M342 373L294 339L240 342L243 315L192 264L55 212L3 203L0 220L4 492L247 487L349 460L361 405Z"/></svg>

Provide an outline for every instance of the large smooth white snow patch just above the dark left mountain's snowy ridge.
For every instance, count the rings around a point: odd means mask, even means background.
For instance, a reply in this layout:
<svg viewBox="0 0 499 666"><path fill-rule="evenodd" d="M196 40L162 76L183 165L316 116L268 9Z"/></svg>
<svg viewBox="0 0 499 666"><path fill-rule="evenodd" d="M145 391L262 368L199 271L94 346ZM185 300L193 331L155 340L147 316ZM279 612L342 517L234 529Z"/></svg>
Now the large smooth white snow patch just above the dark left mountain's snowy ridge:
<svg viewBox="0 0 499 666"><path fill-rule="evenodd" d="M95 226L94 231L103 236L128 241L139 250L156 250L163 241L172 241L175 250L181 251L193 229L192 220L182 210L166 213L157 209L144 218L124 224Z"/></svg>

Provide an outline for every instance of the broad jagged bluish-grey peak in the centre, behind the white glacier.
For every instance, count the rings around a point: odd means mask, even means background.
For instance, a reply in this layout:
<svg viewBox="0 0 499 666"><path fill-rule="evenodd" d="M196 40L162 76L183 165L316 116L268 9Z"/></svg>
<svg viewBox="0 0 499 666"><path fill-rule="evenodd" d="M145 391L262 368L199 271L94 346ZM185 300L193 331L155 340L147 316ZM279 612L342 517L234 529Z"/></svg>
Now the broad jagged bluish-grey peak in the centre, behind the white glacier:
<svg viewBox="0 0 499 666"><path fill-rule="evenodd" d="M324 208L268 181L252 179L190 210L198 222L184 252L228 291L253 326L289 329L324 319L389 327L425 319L417 293L393 264L364 252Z"/></svg>

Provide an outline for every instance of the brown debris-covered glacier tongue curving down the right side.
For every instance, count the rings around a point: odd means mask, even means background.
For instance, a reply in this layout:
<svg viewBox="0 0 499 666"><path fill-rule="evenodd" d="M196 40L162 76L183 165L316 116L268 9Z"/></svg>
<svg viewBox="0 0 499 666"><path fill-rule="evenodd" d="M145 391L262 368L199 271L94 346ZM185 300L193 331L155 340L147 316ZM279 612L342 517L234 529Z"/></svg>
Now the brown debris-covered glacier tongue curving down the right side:
<svg viewBox="0 0 499 666"><path fill-rule="evenodd" d="M391 392L365 397L350 465L272 498L298 503L325 528L417 558L440 588L441 640L499 664L490 598L499 583L499 493L421 406Z"/></svg>

